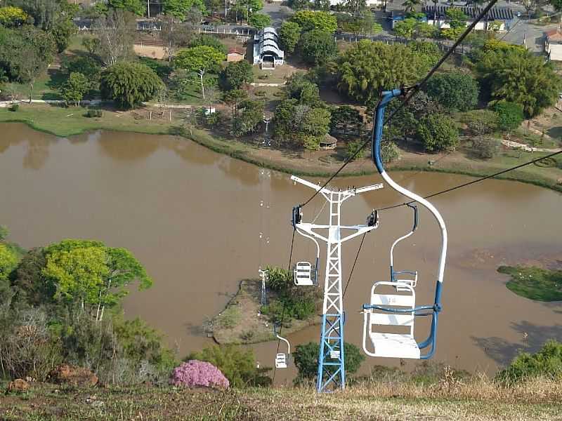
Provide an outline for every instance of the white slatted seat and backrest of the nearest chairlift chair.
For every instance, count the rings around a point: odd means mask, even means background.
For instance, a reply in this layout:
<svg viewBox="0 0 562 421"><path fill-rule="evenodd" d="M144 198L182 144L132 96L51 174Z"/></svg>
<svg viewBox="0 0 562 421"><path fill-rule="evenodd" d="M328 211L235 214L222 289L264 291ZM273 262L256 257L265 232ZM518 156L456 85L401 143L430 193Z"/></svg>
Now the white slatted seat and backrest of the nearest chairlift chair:
<svg viewBox="0 0 562 421"><path fill-rule="evenodd" d="M394 286L396 290L405 294L379 294L375 289L379 286ZM371 290L371 305L379 305L394 309L414 309L416 295L410 283L377 282ZM377 326L401 326L409 330L408 333L380 333L373 332ZM414 314L413 312L384 312L381 309L365 310L365 329L374 347L374 353L365 349L365 335L363 347L371 356L390 358L419 359L420 352L414 339Z"/></svg>

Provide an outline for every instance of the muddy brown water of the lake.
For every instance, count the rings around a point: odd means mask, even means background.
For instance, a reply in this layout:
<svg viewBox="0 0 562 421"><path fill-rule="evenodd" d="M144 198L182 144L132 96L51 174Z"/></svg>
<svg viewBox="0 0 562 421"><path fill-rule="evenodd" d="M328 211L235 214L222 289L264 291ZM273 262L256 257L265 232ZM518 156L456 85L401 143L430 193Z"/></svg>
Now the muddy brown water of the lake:
<svg viewBox="0 0 562 421"><path fill-rule="evenodd" d="M11 240L26 248L65 238L129 248L155 286L131 293L126 314L141 316L166 333L181 356L211 344L202 321L221 312L241 279L257 277L260 265L287 265L292 206L311 194L286 174L169 136L98 131L65 139L16 123L0 124L0 133L0 224L9 227ZM422 195L469 179L392 175ZM337 180L334 186L376 182L380 178L372 175ZM493 373L518 349L535 350L549 338L562 340L562 302L518 297L505 287L507 277L496 272L499 265L518 262L561 265L562 195L487 180L432 200L450 238L434 359ZM346 201L342 222L363 223L372 208L401 201L388 187L361 194ZM305 220L321 208L322 199L312 201L304 209ZM379 229L365 239L344 298L346 340L358 346L361 305L372 283L388 277L389 248L410 229L410 212L404 207L381 213ZM327 208L318 216L318 223L326 221ZM344 282L359 241L342 249ZM419 231L396 250L397 269L419 271L420 305L432 302L438 245L438 228L422 210ZM313 260L314 253L314 246L297 236L294 260ZM426 329L423 322L417 325L420 338ZM289 340L294 347L318 342L319 335L320 326L311 326ZM252 347L262 366L273 365L277 342ZM362 371L374 364L397 362L367 359ZM285 370L277 379L285 382L293 373Z"/></svg>

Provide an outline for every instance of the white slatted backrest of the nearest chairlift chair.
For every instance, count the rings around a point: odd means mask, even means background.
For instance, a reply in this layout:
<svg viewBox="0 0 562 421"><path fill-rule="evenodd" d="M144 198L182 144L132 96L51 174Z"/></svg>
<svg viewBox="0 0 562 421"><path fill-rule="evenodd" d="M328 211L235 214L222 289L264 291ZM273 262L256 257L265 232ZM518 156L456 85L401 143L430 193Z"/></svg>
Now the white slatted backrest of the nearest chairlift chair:
<svg viewBox="0 0 562 421"><path fill-rule="evenodd" d="M379 294L375 292L377 287L391 286L396 288L400 286L403 294ZM377 282L371 290L371 305L380 305L388 308L396 309L413 309L416 306L416 293L409 283L396 282ZM391 313L384 312L379 309L372 309L369 314L369 328L373 325L379 326L405 326L410 328L410 335L414 334L414 314L409 312Z"/></svg>

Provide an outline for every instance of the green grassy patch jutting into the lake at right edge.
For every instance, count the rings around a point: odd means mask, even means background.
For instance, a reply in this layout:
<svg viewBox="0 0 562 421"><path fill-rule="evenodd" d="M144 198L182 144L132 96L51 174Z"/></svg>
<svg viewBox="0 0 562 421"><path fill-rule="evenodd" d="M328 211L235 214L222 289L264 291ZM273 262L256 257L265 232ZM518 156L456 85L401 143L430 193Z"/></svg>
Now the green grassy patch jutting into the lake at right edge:
<svg viewBox="0 0 562 421"><path fill-rule="evenodd" d="M500 266L497 272L511 276L506 286L521 297L537 301L562 300L562 271L534 266Z"/></svg>

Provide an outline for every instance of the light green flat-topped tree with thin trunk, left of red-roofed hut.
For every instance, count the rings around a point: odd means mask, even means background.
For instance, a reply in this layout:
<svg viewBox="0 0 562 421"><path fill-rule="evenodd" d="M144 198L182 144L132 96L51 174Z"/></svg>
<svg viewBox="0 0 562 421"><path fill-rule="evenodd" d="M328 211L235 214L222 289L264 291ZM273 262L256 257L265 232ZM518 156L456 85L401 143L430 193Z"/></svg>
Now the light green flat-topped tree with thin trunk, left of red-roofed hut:
<svg viewBox="0 0 562 421"><path fill-rule="evenodd" d="M201 95L205 99L204 76L207 72L218 72L224 59L224 53L213 47L197 46L178 51L174 63L176 67L197 73L200 77Z"/></svg>

